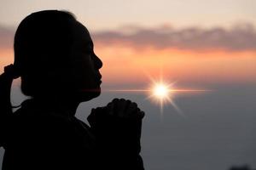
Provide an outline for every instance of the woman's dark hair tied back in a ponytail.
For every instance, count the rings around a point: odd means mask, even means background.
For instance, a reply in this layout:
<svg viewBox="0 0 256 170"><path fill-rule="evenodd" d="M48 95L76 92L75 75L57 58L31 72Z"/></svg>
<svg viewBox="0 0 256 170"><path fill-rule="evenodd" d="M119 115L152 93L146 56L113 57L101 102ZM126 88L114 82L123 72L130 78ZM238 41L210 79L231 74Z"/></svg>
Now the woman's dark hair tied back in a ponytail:
<svg viewBox="0 0 256 170"><path fill-rule="evenodd" d="M72 13L59 10L32 13L20 22L15 33L15 63L7 66L5 76L0 78L1 111L11 111L9 98L14 78L21 77L22 93L33 97L45 87L44 83L55 79L54 75L45 75L46 69L65 67L75 22Z"/></svg>

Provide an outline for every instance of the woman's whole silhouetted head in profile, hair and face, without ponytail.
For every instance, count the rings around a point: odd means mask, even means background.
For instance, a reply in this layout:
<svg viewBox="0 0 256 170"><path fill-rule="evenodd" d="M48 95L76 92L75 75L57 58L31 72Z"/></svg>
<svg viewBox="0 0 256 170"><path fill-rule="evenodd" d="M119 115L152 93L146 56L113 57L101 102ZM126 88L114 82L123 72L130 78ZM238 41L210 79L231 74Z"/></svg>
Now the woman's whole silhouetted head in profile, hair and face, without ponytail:
<svg viewBox="0 0 256 170"><path fill-rule="evenodd" d="M77 102L97 97L102 61L93 48L89 31L72 14L49 10L27 16L15 34L22 92Z"/></svg>

